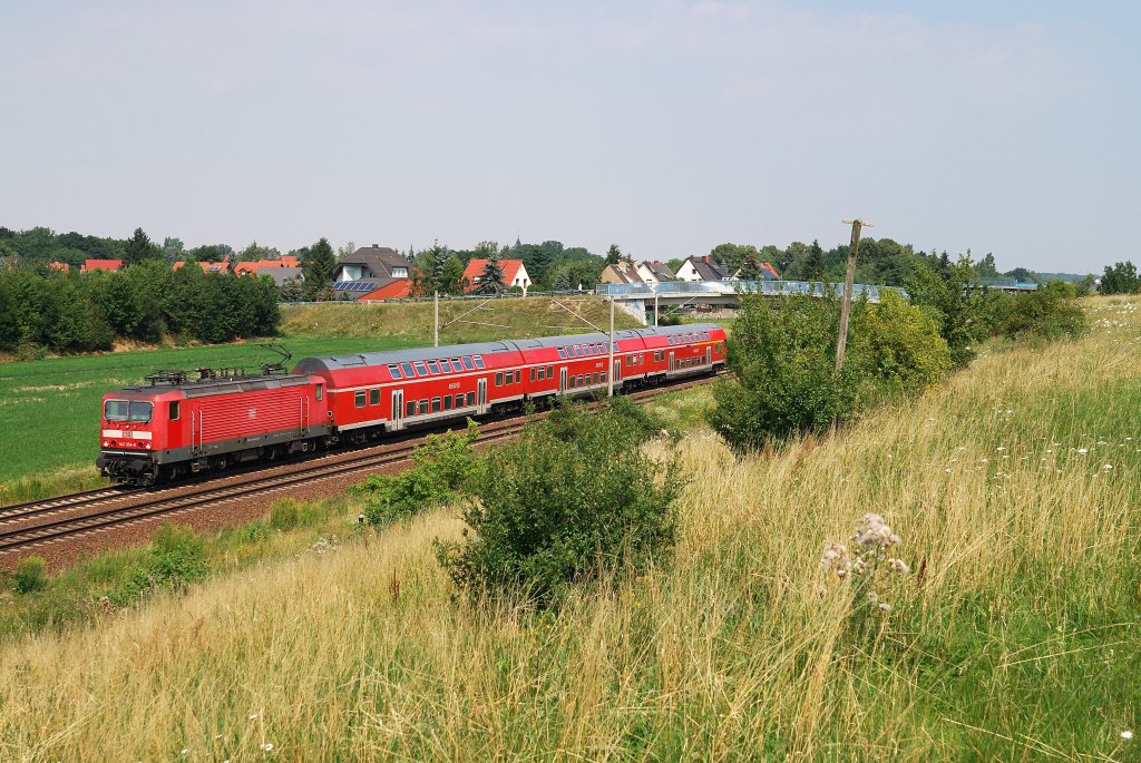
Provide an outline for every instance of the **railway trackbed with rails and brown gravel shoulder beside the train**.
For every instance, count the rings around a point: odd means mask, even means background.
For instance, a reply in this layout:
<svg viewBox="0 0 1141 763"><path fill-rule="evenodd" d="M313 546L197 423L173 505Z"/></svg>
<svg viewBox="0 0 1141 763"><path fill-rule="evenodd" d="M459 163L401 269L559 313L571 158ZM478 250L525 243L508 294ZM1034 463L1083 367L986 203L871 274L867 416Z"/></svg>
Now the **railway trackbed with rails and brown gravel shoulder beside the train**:
<svg viewBox="0 0 1141 763"><path fill-rule="evenodd" d="M707 381L707 376L691 379L625 397L647 399ZM532 419L545 415L539 413ZM526 423L524 416L482 423L476 445L484 447L509 439ZM275 466L260 465L159 489L99 488L3 506L0 508L0 568L10 569L21 558L37 554L55 570L108 547L145 544L164 522L213 530L265 517L282 497L306 501L339 495L367 474L404 469L426 435L405 433L383 445L337 451Z"/></svg>

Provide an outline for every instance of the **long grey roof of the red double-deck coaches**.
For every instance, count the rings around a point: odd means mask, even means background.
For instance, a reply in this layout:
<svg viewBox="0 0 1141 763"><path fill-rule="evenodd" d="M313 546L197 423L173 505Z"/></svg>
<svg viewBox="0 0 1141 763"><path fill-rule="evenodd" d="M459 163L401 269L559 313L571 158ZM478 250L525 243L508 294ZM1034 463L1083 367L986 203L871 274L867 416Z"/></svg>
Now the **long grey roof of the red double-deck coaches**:
<svg viewBox="0 0 1141 763"><path fill-rule="evenodd" d="M717 324L699 323L683 326L659 326L657 328L624 328L614 332L615 339L634 339L638 336L670 336L686 334L691 331L710 331ZM406 350L380 350L377 352L359 352L356 355L333 355L302 358L298 362L294 373L314 373L317 371L337 371L340 368L357 368L361 366L379 366L408 360L435 360L438 358L455 358L470 355L493 355L495 352L515 352L547 347L569 347L589 342L605 342L609 335L602 332L589 334L569 334L566 336L545 336L542 339L505 340L502 342L474 342L471 344L445 344L443 347L418 347Z"/></svg>

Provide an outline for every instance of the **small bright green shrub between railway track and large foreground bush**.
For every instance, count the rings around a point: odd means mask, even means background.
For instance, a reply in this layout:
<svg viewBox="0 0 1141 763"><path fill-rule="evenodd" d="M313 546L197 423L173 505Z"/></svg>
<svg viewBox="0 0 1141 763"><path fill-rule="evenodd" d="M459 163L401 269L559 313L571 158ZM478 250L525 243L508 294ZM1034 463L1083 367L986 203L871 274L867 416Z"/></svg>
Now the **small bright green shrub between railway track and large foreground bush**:
<svg viewBox="0 0 1141 763"><path fill-rule="evenodd" d="M386 525L452 503L474 468L471 446L477 437L479 429L471 420L463 432L429 435L413 453L411 469L399 474L372 474L350 493L367 496L365 516L371 525Z"/></svg>

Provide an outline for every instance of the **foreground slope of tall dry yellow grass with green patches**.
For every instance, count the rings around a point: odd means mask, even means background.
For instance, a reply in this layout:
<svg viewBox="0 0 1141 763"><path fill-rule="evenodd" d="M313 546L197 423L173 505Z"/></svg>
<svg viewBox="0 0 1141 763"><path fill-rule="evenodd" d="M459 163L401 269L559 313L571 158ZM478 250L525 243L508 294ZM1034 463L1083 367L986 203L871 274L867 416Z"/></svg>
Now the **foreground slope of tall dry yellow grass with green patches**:
<svg viewBox="0 0 1141 763"><path fill-rule="evenodd" d="M11 644L3 756L1138 760L1136 315L833 439L695 432L670 569L557 616L455 603L448 510ZM867 511L913 570L887 615L819 563Z"/></svg>

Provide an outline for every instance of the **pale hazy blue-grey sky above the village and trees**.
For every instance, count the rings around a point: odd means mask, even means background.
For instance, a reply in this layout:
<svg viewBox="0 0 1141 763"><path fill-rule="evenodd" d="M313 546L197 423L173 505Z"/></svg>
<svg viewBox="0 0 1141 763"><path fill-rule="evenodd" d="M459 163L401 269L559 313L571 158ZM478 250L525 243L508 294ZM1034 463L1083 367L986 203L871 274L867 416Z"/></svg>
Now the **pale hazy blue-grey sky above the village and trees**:
<svg viewBox="0 0 1141 763"><path fill-rule="evenodd" d="M0 225L1136 260L1141 3L0 0Z"/></svg>

